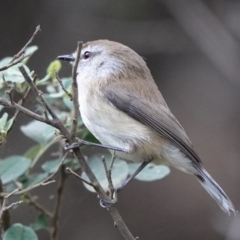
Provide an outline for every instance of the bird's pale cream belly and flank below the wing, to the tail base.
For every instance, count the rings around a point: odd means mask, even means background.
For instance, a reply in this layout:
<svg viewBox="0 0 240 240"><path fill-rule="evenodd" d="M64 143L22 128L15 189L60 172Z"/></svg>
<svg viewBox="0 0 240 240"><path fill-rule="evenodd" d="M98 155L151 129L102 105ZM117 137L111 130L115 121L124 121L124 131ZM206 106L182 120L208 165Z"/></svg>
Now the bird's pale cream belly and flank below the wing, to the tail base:
<svg viewBox="0 0 240 240"><path fill-rule="evenodd" d="M80 112L89 131L103 144L123 149L115 155L129 162L153 161L193 173L191 160L159 133L109 103L82 101Z"/></svg>

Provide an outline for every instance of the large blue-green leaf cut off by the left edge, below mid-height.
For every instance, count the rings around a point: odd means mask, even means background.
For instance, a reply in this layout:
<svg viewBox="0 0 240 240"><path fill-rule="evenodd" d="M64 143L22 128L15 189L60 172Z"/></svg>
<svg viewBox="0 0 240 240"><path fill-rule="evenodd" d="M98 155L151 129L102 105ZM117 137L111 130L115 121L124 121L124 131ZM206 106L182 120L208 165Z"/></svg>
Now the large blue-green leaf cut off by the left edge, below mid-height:
<svg viewBox="0 0 240 240"><path fill-rule="evenodd" d="M14 181L23 175L30 164L30 159L17 155L0 161L0 177L3 184Z"/></svg>

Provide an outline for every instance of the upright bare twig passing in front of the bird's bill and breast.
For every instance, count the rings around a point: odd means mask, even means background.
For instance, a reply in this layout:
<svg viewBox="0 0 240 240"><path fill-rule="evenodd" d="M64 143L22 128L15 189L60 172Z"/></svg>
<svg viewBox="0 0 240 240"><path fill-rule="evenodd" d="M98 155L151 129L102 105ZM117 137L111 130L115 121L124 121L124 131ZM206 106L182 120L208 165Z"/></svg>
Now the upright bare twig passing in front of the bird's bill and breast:
<svg viewBox="0 0 240 240"><path fill-rule="evenodd" d="M76 131L77 131L77 122L78 122L78 116L79 116L79 102L78 102L78 85L77 85L77 67L80 61L80 54L82 50L82 42L78 42L77 46L77 53L76 53L76 59L73 65L72 69L72 90L73 90L73 119L72 119L72 128L70 130L71 139L74 141L76 137Z"/></svg>

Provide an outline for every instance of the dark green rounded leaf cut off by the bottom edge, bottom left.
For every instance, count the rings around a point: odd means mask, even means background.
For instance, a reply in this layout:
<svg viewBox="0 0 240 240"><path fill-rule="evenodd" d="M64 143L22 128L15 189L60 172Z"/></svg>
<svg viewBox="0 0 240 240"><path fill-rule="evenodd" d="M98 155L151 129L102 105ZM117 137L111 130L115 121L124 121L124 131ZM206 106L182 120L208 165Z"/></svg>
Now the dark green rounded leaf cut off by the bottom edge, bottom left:
<svg viewBox="0 0 240 240"><path fill-rule="evenodd" d="M3 240L38 240L38 237L30 227L15 223L5 232Z"/></svg>

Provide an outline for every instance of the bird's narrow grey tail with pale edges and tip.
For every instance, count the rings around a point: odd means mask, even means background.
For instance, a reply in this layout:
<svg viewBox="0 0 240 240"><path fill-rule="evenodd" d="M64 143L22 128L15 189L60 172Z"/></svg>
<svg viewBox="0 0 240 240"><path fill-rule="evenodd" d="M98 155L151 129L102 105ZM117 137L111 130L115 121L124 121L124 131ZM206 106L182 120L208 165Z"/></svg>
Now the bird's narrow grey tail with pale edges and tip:
<svg viewBox="0 0 240 240"><path fill-rule="evenodd" d="M195 176L197 177L198 181L218 203L220 208L228 215L231 213L235 214L236 210L231 200L228 198L227 194L222 190L222 188L209 175L209 173L203 168L197 168L197 171L199 174L195 174Z"/></svg>

